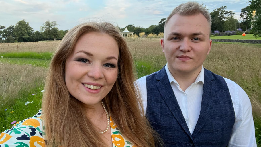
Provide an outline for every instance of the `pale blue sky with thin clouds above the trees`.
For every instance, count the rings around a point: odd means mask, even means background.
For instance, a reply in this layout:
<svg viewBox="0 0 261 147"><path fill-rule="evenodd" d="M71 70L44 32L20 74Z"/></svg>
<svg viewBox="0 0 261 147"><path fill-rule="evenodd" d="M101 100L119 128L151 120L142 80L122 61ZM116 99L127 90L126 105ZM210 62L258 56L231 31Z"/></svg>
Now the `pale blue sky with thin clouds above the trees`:
<svg viewBox="0 0 261 147"><path fill-rule="evenodd" d="M47 20L57 21L60 30L70 29L87 21L108 21L121 28L134 24L148 28L179 4L189 0L0 0L0 25L15 25L25 19L34 31ZM209 11L227 6L239 19L247 0L200 0Z"/></svg>

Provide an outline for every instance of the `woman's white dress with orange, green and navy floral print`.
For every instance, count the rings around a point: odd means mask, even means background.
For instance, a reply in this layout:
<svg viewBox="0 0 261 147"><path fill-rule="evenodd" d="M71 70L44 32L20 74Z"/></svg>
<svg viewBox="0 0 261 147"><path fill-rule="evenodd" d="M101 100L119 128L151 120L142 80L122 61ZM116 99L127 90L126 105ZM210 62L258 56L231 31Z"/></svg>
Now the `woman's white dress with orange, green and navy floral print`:
<svg viewBox="0 0 261 147"><path fill-rule="evenodd" d="M28 119L17 122L11 129L0 134L0 147L44 147L44 128L41 118L42 110ZM121 134L111 121L111 139L113 147L135 147Z"/></svg>

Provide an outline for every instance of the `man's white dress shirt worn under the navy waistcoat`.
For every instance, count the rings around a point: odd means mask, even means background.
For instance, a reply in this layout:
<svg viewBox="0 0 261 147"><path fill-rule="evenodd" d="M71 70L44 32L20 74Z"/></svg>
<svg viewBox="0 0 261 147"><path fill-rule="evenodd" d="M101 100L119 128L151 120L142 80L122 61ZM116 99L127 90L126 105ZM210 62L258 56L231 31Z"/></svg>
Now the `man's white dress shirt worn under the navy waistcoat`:
<svg viewBox="0 0 261 147"><path fill-rule="evenodd" d="M199 119L201 101L204 85L204 68L202 66L201 72L197 79L185 91L180 88L178 82L174 79L168 69L168 63L165 66L170 85L173 89L178 105L186 120L190 133L192 134L197 121ZM256 147L255 127L252 115L252 107L250 99L246 92L235 82L224 78L229 93L231 95L236 121L232 129L232 136L228 147ZM146 76L137 80L143 99L144 112L147 108L147 85Z"/></svg>

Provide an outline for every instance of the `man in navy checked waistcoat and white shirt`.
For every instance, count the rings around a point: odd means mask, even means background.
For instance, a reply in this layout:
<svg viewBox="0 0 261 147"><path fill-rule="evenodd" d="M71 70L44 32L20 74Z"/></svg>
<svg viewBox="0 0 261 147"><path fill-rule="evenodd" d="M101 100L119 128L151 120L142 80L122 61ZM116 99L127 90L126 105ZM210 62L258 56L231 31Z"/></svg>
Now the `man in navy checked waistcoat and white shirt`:
<svg viewBox="0 0 261 147"><path fill-rule="evenodd" d="M146 117L165 146L255 147L250 100L235 82L203 68L211 50L211 17L188 2L166 19L167 64L138 79Z"/></svg>

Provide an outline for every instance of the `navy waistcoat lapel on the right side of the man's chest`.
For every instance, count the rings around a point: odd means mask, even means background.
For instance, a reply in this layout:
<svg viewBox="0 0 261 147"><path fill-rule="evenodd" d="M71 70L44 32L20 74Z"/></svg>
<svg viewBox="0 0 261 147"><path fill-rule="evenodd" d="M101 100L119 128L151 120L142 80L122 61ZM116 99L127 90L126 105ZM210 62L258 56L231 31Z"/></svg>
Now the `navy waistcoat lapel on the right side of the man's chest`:
<svg viewBox="0 0 261 147"><path fill-rule="evenodd" d="M203 94L202 94L202 102L201 102L201 109L199 114L199 119L195 126L195 129L192 133L192 136L195 137L201 128L204 126L205 122L209 117L209 113L211 111L214 97L215 97L215 89L216 85L213 82L214 77L211 73L207 72L204 68L204 86L203 86Z"/></svg>

